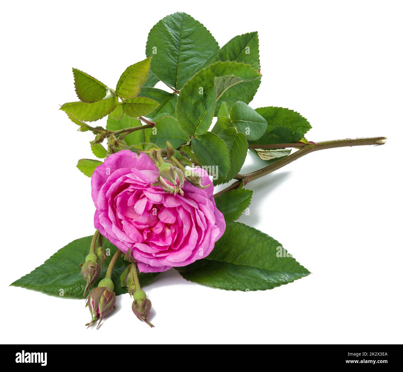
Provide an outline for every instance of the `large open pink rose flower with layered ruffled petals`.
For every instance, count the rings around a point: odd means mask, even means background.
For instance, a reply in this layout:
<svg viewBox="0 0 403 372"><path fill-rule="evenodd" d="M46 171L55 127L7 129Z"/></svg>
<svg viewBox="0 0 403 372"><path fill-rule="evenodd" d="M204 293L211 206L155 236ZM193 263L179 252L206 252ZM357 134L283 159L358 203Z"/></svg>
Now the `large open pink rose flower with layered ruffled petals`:
<svg viewBox="0 0 403 372"><path fill-rule="evenodd" d="M180 194L151 184L158 169L145 154L110 155L91 178L94 225L118 249L131 254L140 272L161 272L206 257L225 230L208 173L201 189L185 181Z"/></svg>

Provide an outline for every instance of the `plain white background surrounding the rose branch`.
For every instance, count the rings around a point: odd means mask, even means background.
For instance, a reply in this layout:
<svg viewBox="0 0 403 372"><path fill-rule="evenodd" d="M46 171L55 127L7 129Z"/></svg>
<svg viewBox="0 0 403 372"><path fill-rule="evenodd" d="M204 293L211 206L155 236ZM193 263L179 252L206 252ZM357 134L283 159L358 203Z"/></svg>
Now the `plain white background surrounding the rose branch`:
<svg viewBox="0 0 403 372"><path fill-rule="evenodd" d="M313 153L251 182L240 221L283 243L313 274L231 292L171 270L147 286L155 328L129 295L100 330L84 300L8 284L93 233L89 132L59 111L77 100L71 67L114 87L144 59L150 28L184 11L220 46L259 32L251 106L299 111L309 140L386 136L383 146ZM1 35L1 342L401 343L402 7L392 1L6 2ZM244 171L264 166L249 154Z"/></svg>

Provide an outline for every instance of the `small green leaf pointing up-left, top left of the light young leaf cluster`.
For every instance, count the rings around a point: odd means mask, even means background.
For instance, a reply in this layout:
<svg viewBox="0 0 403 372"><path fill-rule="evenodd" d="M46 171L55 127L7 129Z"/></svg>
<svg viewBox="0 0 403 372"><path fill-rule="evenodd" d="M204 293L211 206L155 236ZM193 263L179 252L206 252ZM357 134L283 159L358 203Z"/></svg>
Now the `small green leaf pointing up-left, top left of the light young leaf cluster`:
<svg viewBox="0 0 403 372"><path fill-rule="evenodd" d="M77 97L83 102L96 102L106 96L108 87L87 73L74 69L74 86Z"/></svg>

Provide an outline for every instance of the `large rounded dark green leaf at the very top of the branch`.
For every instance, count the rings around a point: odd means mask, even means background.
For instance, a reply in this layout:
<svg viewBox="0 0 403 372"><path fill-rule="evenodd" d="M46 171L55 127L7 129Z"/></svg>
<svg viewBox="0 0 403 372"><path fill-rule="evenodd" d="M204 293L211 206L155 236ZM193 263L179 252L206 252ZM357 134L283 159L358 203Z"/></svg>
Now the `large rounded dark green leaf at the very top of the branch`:
<svg viewBox="0 0 403 372"><path fill-rule="evenodd" d="M218 49L206 27L179 12L154 25L148 34L145 54L152 56L152 73L168 86L180 90Z"/></svg>

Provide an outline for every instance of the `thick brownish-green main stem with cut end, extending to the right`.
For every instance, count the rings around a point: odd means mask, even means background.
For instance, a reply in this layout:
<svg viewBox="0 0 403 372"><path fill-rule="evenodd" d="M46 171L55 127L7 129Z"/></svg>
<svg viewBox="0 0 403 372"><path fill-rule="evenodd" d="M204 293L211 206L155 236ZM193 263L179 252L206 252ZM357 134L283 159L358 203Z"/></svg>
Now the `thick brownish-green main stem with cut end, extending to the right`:
<svg viewBox="0 0 403 372"><path fill-rule="evenodd" d="M322 141L318 142L316 145L303 144L304 146L302 146L300 150L296 151L295 153L292 153L291 155L288 155L284 159L281 159L274 164L270 164L267 167L258 169L251 173L237 174L237 176L235 176L234 178L238 181L234 182L227 188L224 188L224 190L221 190L220 192L214 194L214 198L222 194L225 194L227 191L238 188L242 182L244 185L246 185L248 182L256 180L257 178L260 178L262 176L266 176L266 174L272 173L273 171L276 171L277 169L280 169L281 167L284 167L285 165L292 163L293 161L299 159L300 157L303 157L304 155L313 153L314 151L325 150L327 148L348 147L348 146L382 145L385 143L383 142L384 140L386 140L386 137L354 138L354 139L346 138L345 140ZM265 146L265 145L259 145L259 146ZM278 144L276 144L275 146L278 146Z"/></svg>

